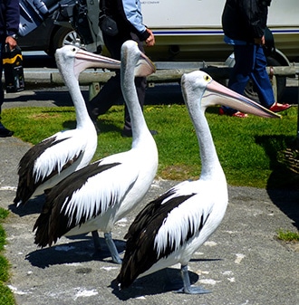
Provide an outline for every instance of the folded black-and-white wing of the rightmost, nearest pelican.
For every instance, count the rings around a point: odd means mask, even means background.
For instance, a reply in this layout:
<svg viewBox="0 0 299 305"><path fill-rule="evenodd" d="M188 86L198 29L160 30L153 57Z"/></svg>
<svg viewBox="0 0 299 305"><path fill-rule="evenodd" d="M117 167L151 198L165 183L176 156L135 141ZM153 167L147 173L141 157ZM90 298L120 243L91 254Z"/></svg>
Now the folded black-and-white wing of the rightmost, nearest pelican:
<svg viewBox="0 0 299 305"><path fill-rule="evenodd" d="M141 273L149 270L160 258L167 257L174 252L176 247L186 243L195 234L195 225L188 217L184 218L185 224L182 225L185 230L172 232L168 225L171 213L179 209L178 214L181 214L180 206L188 200L192 200L194 195L174 196L174 188L172 188L146 205L137 215L125 236L128 241L121 272L118 276L122 288L130 286L130 283ZM170 220L170 222L172 221ZM201 217L197 224L199 230L203 222L204 219ZM161 230L164 232L160 233ZM157 243L157 239L160 241L163 238L161 234L167 235L167 243ZM178 244L174 241L174 235L175 238L178 238Z"/></svg>

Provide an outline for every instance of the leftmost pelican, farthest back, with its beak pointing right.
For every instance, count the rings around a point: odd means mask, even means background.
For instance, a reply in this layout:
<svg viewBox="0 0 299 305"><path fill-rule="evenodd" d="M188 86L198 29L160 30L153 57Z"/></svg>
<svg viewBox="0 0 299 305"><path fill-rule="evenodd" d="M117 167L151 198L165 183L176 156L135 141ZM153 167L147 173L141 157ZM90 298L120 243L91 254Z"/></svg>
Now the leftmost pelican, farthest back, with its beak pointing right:
<svg viewBox="0 0 299 305"><path fill-rule="evenodd" d="M120 69L121 63L75 46L58 49L55 59L74 104L76 129L63 130L30 148L19 162L18 186L14 204L24 205L32 196L56 185L65 176L89 164L97 148L97 133L90 119L79 74L87 68Z"/></svg>

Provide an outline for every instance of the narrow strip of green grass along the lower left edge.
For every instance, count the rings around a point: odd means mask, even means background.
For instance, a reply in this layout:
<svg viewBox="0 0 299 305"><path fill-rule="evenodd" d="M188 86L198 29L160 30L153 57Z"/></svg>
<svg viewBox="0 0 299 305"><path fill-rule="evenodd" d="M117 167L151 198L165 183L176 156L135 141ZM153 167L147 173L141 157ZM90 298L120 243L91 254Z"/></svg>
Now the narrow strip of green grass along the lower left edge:
<svg viewBox="0 0 299 305"><path fill-rule="evenodd" d="M0 207L0 305L13 305L13 292L6 286L5 282L9 279L9 263L3 256L5 247L5 230L2 222L8 215L8 211Z"/></svg>

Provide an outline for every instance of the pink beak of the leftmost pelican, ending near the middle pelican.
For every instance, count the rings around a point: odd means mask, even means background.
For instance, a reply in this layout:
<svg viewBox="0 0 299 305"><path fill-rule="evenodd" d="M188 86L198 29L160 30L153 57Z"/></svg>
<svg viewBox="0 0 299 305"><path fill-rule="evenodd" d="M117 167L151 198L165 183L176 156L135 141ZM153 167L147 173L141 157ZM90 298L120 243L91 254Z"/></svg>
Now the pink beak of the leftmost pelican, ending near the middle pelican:
<svg viewBox="0 0 299 305"><path fill-rule="evenodd" d="M79 49L75 54L75 62L73 71L76 77L88 68L101 68L101 69L121 69L121 62L113 60L109 57L94 54L92 52L87 52Z"/></svg>

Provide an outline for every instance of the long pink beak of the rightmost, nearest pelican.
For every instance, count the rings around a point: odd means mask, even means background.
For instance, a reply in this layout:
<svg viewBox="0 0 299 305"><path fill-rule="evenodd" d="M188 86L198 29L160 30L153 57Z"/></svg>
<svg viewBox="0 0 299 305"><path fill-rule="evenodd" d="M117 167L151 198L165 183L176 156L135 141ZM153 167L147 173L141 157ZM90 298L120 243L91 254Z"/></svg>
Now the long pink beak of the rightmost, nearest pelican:
<svg viewBox="0 0 299 305"><path fill-rule="evenodd" d="M245 96L220 85L217 81L209 81L207 90L202 98L202 106L224 105L235 110L254 114L264 118L281 118L280 115L267 110L254 100L247 99Z"/></svg>

